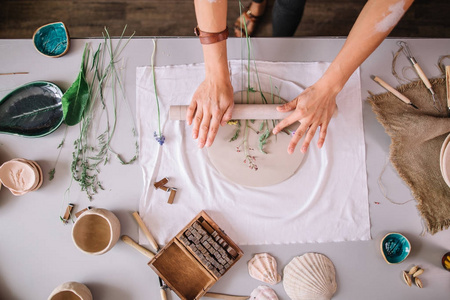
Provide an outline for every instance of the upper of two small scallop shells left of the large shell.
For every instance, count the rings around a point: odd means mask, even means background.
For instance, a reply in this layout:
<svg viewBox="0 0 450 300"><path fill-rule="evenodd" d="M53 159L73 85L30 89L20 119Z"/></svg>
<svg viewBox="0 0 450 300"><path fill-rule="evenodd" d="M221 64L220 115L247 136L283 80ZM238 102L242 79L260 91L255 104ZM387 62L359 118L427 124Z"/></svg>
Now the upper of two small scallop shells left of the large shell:
<svg viewBox="0 0 450 300"><path fill-rule="evenodd" d="M268 284L277 284L281 275L277 272L277 261L268 253L259 253L249 260L248 273L253 278Z"/></svg>

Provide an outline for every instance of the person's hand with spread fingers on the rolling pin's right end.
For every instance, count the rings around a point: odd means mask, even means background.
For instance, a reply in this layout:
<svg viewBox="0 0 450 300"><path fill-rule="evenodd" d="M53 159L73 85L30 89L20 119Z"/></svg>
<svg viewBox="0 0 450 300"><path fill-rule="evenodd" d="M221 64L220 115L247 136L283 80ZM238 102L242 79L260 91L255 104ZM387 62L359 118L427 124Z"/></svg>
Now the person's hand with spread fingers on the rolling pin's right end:
<svg viewBox="0 0 450 300"><path fill-rule="evenodd" d="M334 91L333 91L334 90ZM283 128L300 122L297 130L288 146L288 153L292 154L300 139L306 134L301 151L305 153L309 144L320 127L319 141L317 146L321 148L325 142L328 124L336 109L336 96L340 89L332 89L323 81L318 81L314 85L304 90L294 100L277 107L278 111L293 111L287 118L275 126L273 133L279 133Z"/></svg>

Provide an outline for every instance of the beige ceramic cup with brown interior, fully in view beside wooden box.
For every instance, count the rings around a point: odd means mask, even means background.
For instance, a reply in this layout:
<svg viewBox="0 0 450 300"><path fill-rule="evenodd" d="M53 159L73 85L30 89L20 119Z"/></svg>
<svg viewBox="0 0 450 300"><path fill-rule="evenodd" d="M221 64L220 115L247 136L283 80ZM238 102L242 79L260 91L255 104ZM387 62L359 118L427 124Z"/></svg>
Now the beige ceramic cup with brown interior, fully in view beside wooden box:
<svg viewBox="0 0 450 300"><path fill-rule="evenodd" d="M120 237L120 222L109 210L85 211L72 228L72 239L81 251L99 255L108 252Z"/></svg>

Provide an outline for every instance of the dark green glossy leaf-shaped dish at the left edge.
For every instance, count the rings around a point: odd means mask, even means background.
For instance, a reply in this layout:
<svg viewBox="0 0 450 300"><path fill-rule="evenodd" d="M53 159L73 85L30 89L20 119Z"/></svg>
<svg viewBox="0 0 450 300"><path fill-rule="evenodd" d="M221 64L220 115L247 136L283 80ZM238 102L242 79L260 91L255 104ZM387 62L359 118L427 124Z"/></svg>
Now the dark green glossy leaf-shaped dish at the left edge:
<svg viewBox="0 0 450 300"><path fill-rule="evenodd" d="M26 137L46 136L61 125L63 93L54 83L22 85L0 100L0 133Z"/></svg>

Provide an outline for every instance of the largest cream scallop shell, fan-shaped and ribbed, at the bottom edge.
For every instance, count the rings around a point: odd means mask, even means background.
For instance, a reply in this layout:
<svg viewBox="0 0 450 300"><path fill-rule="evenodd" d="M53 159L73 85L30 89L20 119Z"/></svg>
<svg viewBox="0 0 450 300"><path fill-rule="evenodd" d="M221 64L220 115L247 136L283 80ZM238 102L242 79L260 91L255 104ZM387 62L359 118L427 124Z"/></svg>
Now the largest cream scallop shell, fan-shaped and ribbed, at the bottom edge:
<svg viewBox="0 0 450 300"><path fill-rule="evenodd" d="M333 262L320 253L294 257L283 277L284 290L292 300L331 299L337 289Z"/></svg>

